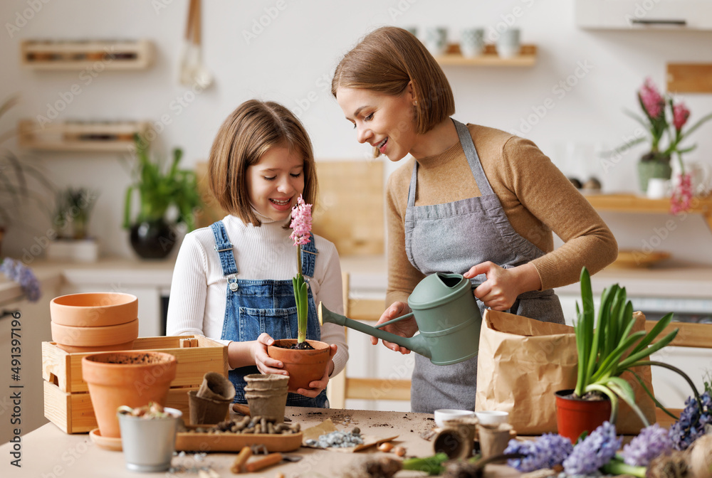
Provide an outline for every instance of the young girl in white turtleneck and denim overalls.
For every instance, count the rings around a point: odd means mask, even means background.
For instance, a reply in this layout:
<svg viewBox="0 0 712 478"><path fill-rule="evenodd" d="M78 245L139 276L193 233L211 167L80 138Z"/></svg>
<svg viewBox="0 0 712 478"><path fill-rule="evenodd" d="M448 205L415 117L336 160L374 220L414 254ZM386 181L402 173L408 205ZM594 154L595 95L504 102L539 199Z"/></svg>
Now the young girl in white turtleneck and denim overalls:
<svg viewBox="0 0 712 478"><path fill-rule="evenodd" d="M227 344L235 401L246 403L245 375L287 374L267 355L267 346L274 339L297 338L292 286L297 253L288 226L300 194L315 202L314 156L307 132L289 110L249 100L220 127L208 168L211 193L229 215L184 238L171 284L167 334L202 334ZM331 344L331 360L324 376L309 390L290 393L287 404L328 407L327 382L344 368L348 349L342 327L319 326L315 303L343 311L341 269L328 240L312 234L303 250L307 338Z"/></svg>

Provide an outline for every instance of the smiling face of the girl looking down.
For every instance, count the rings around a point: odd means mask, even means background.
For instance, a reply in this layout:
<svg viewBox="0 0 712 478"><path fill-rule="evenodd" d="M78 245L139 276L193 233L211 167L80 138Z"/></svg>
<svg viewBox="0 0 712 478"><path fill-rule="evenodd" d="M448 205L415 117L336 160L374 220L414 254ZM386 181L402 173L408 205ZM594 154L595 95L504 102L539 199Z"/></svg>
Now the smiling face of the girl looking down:
<svg viewBox="0 0 712 478"><path fill-rule="evenodd" d="M247 168L250 202L274 221L288 218L304 191L304 159L297 150L273 147Z"/></svg>

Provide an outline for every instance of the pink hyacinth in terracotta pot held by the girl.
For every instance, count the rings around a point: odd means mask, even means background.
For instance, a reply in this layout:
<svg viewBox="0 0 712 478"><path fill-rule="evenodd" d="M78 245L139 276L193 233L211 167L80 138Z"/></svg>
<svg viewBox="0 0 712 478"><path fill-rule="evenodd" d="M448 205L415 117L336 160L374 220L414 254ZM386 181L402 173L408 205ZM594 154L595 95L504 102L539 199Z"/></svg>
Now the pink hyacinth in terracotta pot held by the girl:
<svg viewBox="0 0 712 478"><path fill-rule="evenodd" d="M312 205L305 203L300 195L296 206L292 208L290 223L290 228L293 229L290 238L297 247L297 275L292 279L297 307L297 338L276 340L267 348L268 355L281 361L284 369L288 371L290 390L310 388L310 382L322 378L330 356L329 344L307 340L309 302L308 284L302 275L302 245L308 244L311 237L311 208Z"/></svg>

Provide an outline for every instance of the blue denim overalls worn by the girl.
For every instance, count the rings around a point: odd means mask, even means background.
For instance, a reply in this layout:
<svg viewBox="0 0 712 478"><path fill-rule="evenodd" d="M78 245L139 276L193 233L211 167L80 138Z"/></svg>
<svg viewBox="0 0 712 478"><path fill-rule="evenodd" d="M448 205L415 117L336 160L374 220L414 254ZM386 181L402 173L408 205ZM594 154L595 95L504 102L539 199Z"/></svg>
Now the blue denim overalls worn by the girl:
<svg viewBox="0 0 712 478"><path fill-rule="evenodd" d="M238 279L232 243L227 237L225 226L222 221L217 221L210 228L215 237L215 250L220 255L223 277L227 277L225 319L220 338L244 342L256 340L261 333L266 332L275 340L296 339L297 307L292 281ZM302 275L307 281L314 275L317 254L312 234L309 243L302 246ZM311 287L308 287L308 302L307 339L319 340L321 331ZM260 373L260 371L254 365L229 371L230 381L235 386L234 401L237 403L247 403L244 376L250 373ZM327 408L326 391L321 391L316 398L289 393L287 405Z"/></svg>

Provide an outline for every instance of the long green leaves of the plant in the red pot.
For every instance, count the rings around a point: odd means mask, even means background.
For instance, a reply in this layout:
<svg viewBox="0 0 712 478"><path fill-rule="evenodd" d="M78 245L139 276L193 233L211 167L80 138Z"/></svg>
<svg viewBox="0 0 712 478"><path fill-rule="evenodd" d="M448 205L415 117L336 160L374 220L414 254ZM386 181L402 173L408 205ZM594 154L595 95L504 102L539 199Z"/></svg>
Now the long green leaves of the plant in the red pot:
<svg viewBox="0 0 712 478"><path fill-rule="evenodd" d="M577 321L574 324L579 357L574 395L583 397L589 392L606 395L611 400L612 423L618 415L620 398L647 426L645 415L635 403L632 386L620 376L636 366L657 364L643 359L675 338L678 329L653 344L670 324L673 314L660 319L647 334L645 331L632 332L635 323L633 305L627 300L625 287L616 284L603 291L596 318L591 277L586 267L581 271L580 281L582 307L576 304ZM645 391L652 396L647 388Z"/></svg>

